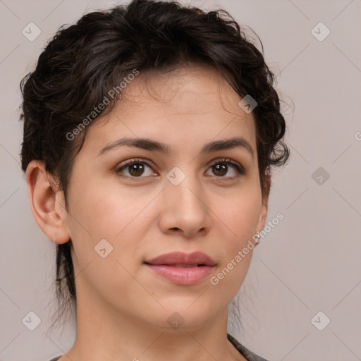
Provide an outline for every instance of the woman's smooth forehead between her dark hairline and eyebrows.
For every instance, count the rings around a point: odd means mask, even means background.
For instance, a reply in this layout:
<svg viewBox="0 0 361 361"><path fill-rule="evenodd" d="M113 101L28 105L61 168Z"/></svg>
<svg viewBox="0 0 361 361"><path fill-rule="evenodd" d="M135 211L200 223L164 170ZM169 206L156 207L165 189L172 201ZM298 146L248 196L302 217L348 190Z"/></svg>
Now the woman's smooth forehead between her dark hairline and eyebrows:
<svg viewBox="0 0 361 361"><path fill-rule="evenodd" d="M181 143L242 135L255 142L255 121L241 97L210 66L140 72L123 89L114 109L89 129L84 146L100 149L121 136ZM188 142L189 143L189 142Z"/></svg>

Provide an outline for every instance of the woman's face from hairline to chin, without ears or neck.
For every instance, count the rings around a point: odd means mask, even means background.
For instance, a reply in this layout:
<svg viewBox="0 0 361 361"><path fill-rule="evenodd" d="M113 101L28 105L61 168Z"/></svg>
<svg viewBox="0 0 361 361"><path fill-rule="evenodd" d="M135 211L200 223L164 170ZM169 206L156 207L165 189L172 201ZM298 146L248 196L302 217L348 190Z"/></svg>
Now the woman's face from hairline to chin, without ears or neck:
<svg viewBox="0 0 361 361"><path fill-rule="evenodd" d="M78 304L159 329L179 317L195 329L237 293L252 255L242 251L267 216L255 121L212 68L140 72L125 94L87 128L68 185ZM145 263L169 252L202 252L215 265Z"/></svg>

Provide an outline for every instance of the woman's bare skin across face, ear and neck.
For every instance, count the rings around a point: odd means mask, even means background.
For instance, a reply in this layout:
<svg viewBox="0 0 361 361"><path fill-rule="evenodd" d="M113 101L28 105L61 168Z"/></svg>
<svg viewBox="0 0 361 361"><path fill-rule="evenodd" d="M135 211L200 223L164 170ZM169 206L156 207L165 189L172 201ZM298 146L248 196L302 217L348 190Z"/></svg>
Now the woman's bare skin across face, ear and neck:
<svg viewBox="0 0 361 361"><path fill-rule="evenodd" d="M199 250L216 262L213 276L264 227L268 195L262 199L255 120L239 101L207 66L140 73L114 110L87 127L68 185L68 212L44 164L29 164L37 224L55 243L73 244L77 329L60 361L245 360L226 338L227 316L252 250L216 286L209 279L176 285L143 263ZM240 147L200 154L208 142L235 136L247 140L254 157ZM121 137L148 137L171 152L115 147L98 155ZM117 173L116 166L133 158L149 166L143 173L132 166ZM237 177L231 165L223 173L212 169L209 164L222 158L246 173ZM174 166L185 174L179 185L166 178ZM102 258L94 247L104 238L113 251ZM173 312L185 320L179 329L167 322Z"/></svg>

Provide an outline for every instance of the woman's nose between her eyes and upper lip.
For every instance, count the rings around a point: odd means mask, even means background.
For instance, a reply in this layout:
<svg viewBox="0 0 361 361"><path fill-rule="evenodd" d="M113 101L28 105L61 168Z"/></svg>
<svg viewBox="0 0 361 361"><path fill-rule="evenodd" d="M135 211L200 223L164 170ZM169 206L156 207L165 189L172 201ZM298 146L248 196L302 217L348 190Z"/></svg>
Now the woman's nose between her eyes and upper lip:
<svg viewBox="0 0 361 361"><path fill-rule="evenodd" d="M166 181L161 197L159 227L163 233L194 238L209 232L211 211L207 195L196 176L187 175L178 185Z"/></svg>

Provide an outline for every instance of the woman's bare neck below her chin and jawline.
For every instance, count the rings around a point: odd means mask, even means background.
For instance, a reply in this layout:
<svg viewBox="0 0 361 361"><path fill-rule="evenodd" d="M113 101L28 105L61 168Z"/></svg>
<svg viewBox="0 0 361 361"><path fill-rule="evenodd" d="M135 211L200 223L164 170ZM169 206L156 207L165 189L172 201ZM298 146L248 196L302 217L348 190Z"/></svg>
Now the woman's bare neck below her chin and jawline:
<svg viewBox="0 0 361 361"><path fill-rule="evenodd" d="M87 299L92 302L77 302L75 342L59 361L245 360L227 340L228 306L207 322L187 324L185 319L180 328L172 329ZM162 312L165 319L173 313Z"/></svg>

